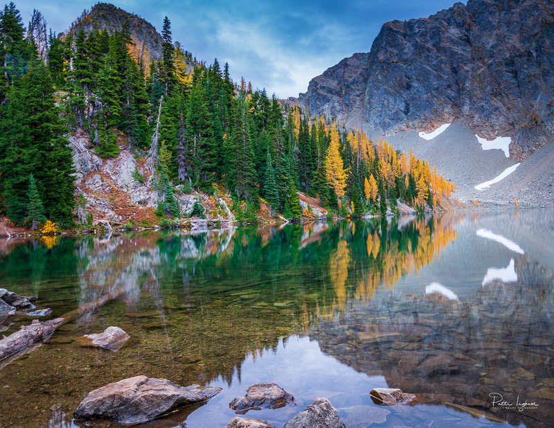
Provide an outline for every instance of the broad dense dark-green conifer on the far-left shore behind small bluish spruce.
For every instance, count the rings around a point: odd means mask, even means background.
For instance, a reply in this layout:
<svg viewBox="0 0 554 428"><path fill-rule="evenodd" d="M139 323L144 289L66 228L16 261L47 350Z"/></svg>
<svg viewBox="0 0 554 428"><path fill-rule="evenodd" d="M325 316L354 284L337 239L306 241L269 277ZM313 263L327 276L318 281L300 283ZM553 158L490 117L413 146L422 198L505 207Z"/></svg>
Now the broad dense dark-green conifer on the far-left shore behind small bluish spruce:
<svg viewBox="0 0 554 428"><path fill-rule="evenodd" d="M73 158L67 130L54 104L53 82L37 60L8 91L0 107L0 177L8 216L16 224L26 217L29 175L43 187L49 220L73 224Z"/></svg>

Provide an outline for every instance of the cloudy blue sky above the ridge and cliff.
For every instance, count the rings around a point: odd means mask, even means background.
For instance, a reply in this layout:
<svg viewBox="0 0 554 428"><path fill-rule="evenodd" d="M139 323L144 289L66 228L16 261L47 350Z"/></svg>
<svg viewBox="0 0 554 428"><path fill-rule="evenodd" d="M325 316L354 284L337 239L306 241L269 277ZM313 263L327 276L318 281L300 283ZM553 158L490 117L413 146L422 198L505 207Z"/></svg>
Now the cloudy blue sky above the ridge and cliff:
<svg viewBox="0 0 554 428"><path fill-rule="evenodd" d="M27 26L33 8L61 33L95 0L14 0ZM429 17L454 0L114 0L161 31L197 60L229 62L233 80L251 81L279 98L298 96L330 66L369 52L386 21ZM464 1L465 3L465 1Z"/></svg>

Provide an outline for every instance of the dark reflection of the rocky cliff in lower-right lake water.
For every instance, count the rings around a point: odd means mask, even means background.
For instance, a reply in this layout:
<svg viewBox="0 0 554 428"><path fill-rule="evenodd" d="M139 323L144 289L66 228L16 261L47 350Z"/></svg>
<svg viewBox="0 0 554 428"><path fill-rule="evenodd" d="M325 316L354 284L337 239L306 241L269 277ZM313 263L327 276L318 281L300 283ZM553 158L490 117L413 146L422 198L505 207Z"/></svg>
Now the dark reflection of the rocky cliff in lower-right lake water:
<svg viewBox="0 0 554 428"><path fill-rule="evenodd" d="M323 352L421 402L485 409L512 424L551 426L554 271L523 256L517 281L493 280L467 301L379 294L312 326ZM508 402L538 407L499 408ZM431 394L431 395L427 395Z"/></svg>

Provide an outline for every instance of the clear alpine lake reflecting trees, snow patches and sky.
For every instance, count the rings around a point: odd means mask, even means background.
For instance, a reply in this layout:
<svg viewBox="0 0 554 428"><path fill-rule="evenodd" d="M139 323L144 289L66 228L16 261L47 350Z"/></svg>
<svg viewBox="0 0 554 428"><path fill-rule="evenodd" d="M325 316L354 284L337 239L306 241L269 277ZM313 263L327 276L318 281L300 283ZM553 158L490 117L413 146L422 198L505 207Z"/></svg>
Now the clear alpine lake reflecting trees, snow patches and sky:
<svg viewBox="0 0 554 428"><path fill-rule="evenodd" d="M117 427L73 411L136 375L222 388L141 427L225 427L258 382L294 396L242 416L275 427L318 397L349 428L552 427L553 243L551 209L1 240L0 288L87 311L0 362L0 427Z"/></svg>

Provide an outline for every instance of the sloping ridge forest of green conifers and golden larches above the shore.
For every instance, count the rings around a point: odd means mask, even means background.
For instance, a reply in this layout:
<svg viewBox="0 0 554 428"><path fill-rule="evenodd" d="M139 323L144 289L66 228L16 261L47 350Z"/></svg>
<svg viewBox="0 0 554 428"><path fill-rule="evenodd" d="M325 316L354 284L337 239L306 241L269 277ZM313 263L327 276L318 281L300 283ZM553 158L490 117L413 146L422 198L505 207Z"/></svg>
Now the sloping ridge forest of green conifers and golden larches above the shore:
<svg viewBox="0 0 554 428"><path fill-rule="evenodd" d="M100 157L117 157L121 136L148 157L160 220L181 216L177 192L215 188L233 196L235 213L243 201L250 212L265 204L287 218L303 215L297 192L346 216L397 212L398 200L435 208L454 190L413 154L283 105L244 78L233 82L229 64L196 62L172 41L168 17L161 38L161 56L147 62L127 22L56 37L37 10L26 28L14 3L4 7L0 191L13 223L74 224L79 197L68 135L76 129Z"/></svg>

